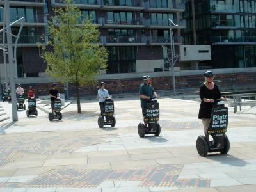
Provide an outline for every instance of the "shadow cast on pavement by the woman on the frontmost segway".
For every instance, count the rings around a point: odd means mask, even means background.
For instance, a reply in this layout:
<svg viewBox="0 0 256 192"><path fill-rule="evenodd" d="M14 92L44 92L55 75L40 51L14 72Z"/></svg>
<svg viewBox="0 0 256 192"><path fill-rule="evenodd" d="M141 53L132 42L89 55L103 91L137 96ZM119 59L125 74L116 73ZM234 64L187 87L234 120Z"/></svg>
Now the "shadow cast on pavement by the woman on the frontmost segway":
<svg viewBox="0 0 256 192"><path fill-rule="evenodd" d="M246 164L248 164L243 159L239 159L229 154L209 154L209 156L205 158L212 159L214 161L219 161L221 164L228 164L231 166L246 166Z"/></svg>

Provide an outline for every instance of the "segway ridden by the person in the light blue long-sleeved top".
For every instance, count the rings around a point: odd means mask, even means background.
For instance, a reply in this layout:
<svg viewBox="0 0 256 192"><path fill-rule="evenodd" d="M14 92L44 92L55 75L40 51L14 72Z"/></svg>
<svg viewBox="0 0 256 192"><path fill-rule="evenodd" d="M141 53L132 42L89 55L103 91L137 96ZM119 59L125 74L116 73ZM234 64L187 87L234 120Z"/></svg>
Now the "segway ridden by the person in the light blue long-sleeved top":
<svg viewBox="0 0 256 192"><path fill-rule="evenodd" d="M102 128L104 125L111 125L115 127L116 118L114 115L114 101L111 97L107 97L104 102L103 116L99 116L98 125Z"/></svg>

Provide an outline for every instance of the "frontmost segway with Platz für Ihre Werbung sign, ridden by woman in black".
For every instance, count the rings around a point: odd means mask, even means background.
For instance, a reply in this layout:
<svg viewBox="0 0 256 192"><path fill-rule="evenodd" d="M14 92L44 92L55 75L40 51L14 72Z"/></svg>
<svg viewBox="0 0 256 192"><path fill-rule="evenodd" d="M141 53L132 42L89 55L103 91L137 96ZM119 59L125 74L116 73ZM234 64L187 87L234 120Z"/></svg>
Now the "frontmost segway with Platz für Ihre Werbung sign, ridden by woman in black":
<svg viewBox="0 0 256 192"><path fill-rule="evenodd" d="M212 136L213 140L208 142L205 136L198 136L196 140L196 149L200 156L207 156L208 152L228 153L230 143L225 134L228 127L228 108L224 104L223 100L216 100L212 108L207 133Z"/></svg>

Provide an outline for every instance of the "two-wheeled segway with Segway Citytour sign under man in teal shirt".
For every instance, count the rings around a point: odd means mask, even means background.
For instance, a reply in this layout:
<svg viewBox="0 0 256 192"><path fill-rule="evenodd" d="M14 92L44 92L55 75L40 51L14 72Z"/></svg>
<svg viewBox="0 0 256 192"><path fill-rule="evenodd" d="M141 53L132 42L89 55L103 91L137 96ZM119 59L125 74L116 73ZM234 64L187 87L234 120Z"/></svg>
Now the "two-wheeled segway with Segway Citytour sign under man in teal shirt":
<svg viewBox="0 0 256 192"><path fill-rule="evenodd" d="M138 125L138 134L141 138L143 138L145 134L155 134L155 136L159 136L161 132L161 127L158 123L159 116L159 103L156 98L152 98L147 104L144 116L144 122L147 123L147 127L143 123Z"/></svg>

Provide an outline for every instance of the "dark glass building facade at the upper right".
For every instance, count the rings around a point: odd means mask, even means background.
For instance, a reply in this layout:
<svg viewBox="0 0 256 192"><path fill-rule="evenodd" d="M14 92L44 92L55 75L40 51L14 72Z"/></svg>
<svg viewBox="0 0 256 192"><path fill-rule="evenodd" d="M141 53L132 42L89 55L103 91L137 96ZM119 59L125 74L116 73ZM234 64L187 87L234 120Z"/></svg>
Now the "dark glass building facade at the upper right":
<svg viewBox="0 0 256 192"><path fill-rule="evenodd" d="M255 17L255 0L186 1L182 35L187 45L211 45L212 68L256 67Z"/></svg>

